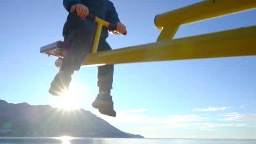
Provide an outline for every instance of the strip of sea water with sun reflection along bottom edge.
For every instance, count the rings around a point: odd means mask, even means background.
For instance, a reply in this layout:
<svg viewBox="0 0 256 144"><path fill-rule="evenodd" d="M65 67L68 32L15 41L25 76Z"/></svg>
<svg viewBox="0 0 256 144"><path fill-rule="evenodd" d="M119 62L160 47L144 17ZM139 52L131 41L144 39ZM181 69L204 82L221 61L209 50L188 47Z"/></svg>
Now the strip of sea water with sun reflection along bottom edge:
<svg viewBox="0 0 256 144"><path fill-rule="evenodd" d="M121 139L0 137L0 144L256 144L256 139Z"/></svg>

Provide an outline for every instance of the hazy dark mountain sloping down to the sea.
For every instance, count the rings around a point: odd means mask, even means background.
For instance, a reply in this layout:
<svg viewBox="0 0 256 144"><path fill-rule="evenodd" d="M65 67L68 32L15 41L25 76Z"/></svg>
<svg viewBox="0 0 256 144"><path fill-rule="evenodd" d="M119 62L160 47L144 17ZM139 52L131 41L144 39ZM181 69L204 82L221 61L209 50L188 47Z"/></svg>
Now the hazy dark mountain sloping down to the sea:
<svg viewBox="0 0 256 144"><path fill-rule="evenodd" d="M144 138L125 133L90 111L0 100L0 136Z"/></svg>

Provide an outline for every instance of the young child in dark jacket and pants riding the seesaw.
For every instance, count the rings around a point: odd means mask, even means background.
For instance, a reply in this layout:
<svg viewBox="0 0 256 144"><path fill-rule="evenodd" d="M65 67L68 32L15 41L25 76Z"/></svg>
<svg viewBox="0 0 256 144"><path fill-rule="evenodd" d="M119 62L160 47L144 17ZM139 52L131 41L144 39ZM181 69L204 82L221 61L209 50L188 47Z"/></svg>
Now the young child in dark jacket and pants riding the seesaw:
<svg viewBox="0 0 256 144"><path fill-rule="evenodd" d="M124 33L125 26L120 22L115 6L109 0L63 0L64 8L69 12L67 21L63 27L64 43L67 45L67 53L64 56L61 67L54 77L49 92L54 96L60 96L69 88L74 71L78 71L91 51L96 34L97 24L87 20L88 13L117 25L117 32ZM76 15L74 14L76 13ZM111 50L107 43L108 29L102 27L97 51ZM116 116L110 91L113 83L114 65L98 67L99 94L92 106L99 109L104 115Z"/></svg>

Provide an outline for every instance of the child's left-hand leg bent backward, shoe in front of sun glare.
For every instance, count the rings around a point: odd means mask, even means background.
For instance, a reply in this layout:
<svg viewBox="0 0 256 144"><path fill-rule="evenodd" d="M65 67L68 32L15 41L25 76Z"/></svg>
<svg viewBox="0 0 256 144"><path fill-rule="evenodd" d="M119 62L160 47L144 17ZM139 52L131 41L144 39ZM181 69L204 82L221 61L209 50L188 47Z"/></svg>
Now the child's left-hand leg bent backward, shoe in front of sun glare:
<svg viewBox="0 0 256 144"><path fill-rule="evenodd" d="M51 94L59 96L63 91L67 91L74 71L80 69L88 50L92 47L94 33L92 30L83 28L76 29L65 37L64 43L67 44L67 53L64 56L59 73L51 83L49 89Z"/></svg>

